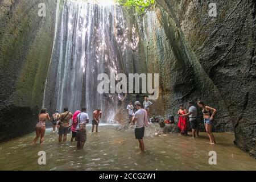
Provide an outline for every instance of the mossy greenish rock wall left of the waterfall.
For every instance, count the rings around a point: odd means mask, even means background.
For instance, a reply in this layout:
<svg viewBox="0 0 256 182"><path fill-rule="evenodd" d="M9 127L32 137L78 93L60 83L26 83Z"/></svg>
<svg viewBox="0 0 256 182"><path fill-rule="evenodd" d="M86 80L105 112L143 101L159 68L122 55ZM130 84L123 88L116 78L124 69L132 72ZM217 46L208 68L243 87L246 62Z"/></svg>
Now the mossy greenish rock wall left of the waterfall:
<svg viewBox="0 0 256 182"><path fill-rule="evenodd" d="M46 17L39 17L39 3ZM0 1L0 141L34 130L51 57L55 1Z"/></svg>

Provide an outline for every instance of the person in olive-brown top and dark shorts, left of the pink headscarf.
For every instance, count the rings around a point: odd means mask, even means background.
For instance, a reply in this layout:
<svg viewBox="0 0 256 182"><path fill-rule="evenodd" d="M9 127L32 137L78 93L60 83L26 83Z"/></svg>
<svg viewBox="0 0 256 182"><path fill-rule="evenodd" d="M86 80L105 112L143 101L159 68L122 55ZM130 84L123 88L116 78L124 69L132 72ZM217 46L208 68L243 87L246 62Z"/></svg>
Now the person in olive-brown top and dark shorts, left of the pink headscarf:
<svg viewBox="0 0 256 182"><path fill-rule="evenodd" d="M62 140L63 142L67 140L67 134L69 129L69 120L73 117L73 114L68 111L68 107L64 108L64 113L60 114L60 117L57 120L60 120L60 128L59 128L59 142Z"/></svg>

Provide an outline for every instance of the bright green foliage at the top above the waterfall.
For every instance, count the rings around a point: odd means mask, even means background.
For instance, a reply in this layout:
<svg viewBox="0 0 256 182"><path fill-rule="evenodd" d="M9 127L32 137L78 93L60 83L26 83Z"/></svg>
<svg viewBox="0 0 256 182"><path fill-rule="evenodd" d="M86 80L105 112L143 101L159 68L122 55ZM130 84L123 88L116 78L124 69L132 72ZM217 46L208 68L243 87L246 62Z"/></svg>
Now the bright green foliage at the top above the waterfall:
<svg viewBox="0 0 256 182"><path fill-rule="evenodd" d="M154 5L155 0L116 0L116 3L135 10L138 14L143 14L151 5Z"/></svg>

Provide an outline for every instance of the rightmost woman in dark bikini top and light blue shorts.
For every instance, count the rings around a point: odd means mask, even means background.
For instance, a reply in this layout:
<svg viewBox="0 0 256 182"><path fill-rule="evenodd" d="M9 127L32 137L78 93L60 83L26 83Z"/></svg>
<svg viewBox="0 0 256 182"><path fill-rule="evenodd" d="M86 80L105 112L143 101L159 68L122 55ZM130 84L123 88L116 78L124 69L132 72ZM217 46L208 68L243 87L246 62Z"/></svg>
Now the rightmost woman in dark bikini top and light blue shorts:
<svg viewBox="0 0 256 182"><path fill-rule="evenodd" d="M205 130L207 131L208 137L210 139L210 144L216 144L214 135L212 134L212 125L213 125L213 119L215 114L217 113L217 110L205 105L204 102L202 101L198 101L197 105L203 108L204 126L205 126Z"/></svg>

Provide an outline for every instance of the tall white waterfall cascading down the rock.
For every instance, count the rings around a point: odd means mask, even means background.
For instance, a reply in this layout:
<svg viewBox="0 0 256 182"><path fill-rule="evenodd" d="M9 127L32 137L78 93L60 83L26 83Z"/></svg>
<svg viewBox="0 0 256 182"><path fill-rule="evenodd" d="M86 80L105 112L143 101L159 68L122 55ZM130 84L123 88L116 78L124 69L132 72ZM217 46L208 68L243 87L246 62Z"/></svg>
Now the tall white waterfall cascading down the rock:
<svg viewBox="0 0 256 182"><path fill-rule="evenodd" d="M132 63L127 55L132 55L138 42L128 35L133 28L129 28L121 7L114 4L63 3L48 76L55 81L47 83L51 88L45 92L50 97L48 105L61 111L65 106L70 111L86 106L90 118L100 107L104 120L112 119L123 96L99 94L97 77L100 73L127 73L127 69L134 72L130 68L133 64L125 64Z"/></svg>

